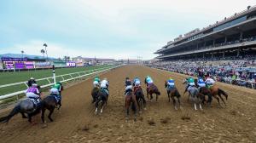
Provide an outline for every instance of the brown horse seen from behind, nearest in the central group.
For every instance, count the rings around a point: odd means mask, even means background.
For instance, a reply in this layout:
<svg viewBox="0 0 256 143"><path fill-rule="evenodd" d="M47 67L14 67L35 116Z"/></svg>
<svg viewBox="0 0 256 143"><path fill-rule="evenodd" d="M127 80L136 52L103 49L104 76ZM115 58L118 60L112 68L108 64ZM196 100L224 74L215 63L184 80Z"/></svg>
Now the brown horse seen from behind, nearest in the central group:
<svg viewBox="0 0 256 143"><path fill-rule="evenodd" d="M127 122L129 119L129 108L131 106L132 111L134 112L134 121L136 121L137 117L137 109L136 109L136 100L135 95L132 93L132 90L128 90L125 94L125 109L126 109L126 117L125 121ZM132 104L131 104L132 103Z"/></svg>

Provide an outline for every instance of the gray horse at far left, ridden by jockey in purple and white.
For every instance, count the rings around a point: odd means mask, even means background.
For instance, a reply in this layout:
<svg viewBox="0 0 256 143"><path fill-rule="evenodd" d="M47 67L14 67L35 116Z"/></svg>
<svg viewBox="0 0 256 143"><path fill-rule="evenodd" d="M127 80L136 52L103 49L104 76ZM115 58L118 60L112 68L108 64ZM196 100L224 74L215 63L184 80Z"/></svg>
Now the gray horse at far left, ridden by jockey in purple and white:
<svg viewBox="0 0 256 143"><path fill-rule="evenodd" d="M9 113L6 117L1 117L1 123L8 123L11 117L14 117L16 114L21 113L22 118L28 118L28 122L32 123L32 116L37 115L41 111L41 106L34 106L34 103L30 99L21 100L12 112ZM25 116L27 114L27 117Z"/></svg>

